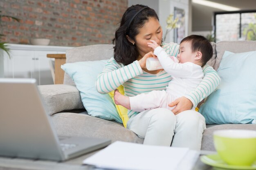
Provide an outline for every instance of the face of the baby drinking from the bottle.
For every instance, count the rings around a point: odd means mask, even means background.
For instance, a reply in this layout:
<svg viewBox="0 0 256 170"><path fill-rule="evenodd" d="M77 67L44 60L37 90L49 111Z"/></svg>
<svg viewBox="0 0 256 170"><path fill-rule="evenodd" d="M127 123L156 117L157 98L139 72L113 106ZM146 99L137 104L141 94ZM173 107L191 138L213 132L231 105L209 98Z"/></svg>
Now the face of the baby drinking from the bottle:
<svg viewBox="0 0 256 170"><path fill-rule="evenodd" d="M192 52L190 42L184 41L180 44L180 53L177 55L177 58L178 60L180 60L180 63L194 62L195 56L196 53Z"/></svg>

